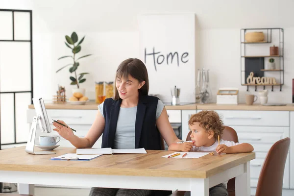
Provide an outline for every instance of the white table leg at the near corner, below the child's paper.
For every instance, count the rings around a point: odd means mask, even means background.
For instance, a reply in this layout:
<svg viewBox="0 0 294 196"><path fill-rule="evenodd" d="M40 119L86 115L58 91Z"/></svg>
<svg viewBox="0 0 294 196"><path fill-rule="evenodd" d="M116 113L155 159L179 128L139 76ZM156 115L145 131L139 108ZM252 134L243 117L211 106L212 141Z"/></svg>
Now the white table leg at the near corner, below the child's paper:
<svg viewBox="0 0 294 196"><path fill-rule="evenodd" d="M209 196L208 178L191 178L191 196Z"/></svg>

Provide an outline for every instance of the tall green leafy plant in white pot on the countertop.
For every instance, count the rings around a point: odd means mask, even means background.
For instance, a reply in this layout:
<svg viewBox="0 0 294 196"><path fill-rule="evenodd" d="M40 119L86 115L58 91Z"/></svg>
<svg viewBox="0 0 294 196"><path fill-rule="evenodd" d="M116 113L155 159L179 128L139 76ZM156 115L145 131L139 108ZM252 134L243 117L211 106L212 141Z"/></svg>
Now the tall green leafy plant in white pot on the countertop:
<svg viewBox="0 0 294 196"><path fill-rule="evenodd" d="M65 45L71 49L71 51L73 52L73 55L67 55L67 56L62 56L60 58L58 58L58 60L63 59L63 58L70 58L72 63L67 64L66 66L63 66L62 68L60 68L59 70L56 71L59 72L60 70L71 66L71 68L69 69L70 73L73 73L74 76L70 76L71 79L71 85L76 85L76 89L73 89L73 93L81 93L83 95L85 95L85 89L80 88L80 84L86 81L86 78L84 78L84 75L89 74L89 73L76 73L77 68L79 67L80 63L78 62L79 59L90 56L92 54L87 54L84 56L80 56L80 57L76 57L76 54L78 52L81 51L81 44L85 39L85 36L78 42L78 36L75 32L72 33L71 37L66 35L65 36L66 42Z"/></svg>

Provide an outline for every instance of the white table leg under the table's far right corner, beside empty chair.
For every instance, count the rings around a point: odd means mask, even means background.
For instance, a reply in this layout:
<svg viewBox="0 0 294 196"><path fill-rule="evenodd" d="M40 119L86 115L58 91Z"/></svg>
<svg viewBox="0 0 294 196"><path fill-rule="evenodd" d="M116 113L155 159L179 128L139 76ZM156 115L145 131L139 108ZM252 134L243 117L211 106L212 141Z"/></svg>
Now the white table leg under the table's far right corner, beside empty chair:
<svg viewBox="0 0 294 196"><path fill-rule="evenodd" d="M235 191L236 196L250 196L250 162L244 164L244 172L236 176Z"/></svg>

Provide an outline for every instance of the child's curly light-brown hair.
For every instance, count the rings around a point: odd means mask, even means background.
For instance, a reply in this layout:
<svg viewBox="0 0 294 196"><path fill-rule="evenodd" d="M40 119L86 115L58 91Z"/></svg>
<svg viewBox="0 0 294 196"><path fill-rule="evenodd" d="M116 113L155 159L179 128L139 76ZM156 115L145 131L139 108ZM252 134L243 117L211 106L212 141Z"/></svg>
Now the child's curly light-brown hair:
<svg viewBox="0 0 294 196"><path fill-rule="evenodd" d="M206 131L213 131L216 139L218 139L218 135L221 137L224 129L220 116L215 111L202 110L193 114L188 123L190 125L199 123L199 126L202 126Z"/></svg>

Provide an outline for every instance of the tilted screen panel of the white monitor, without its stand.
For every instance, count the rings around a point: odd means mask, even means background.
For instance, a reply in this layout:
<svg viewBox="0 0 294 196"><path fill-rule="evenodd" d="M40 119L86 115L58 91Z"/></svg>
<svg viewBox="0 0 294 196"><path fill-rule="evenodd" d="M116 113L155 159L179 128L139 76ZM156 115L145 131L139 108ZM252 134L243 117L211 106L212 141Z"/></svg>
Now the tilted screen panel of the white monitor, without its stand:
<svg viewBox="0 0 294 196"><path fill-rule="evenodd" d="M40 117L40 119L38 120L38 124L41 131L45 133L50 133L51 128L43 98L33 98L33 103L36 115Z"/></svg>

